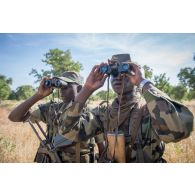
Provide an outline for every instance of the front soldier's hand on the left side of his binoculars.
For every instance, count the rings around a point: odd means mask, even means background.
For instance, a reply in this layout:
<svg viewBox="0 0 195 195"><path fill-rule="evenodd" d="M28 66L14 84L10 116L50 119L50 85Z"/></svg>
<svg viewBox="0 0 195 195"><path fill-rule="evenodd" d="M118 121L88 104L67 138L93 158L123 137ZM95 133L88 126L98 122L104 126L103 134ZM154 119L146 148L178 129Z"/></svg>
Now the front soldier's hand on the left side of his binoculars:
<svg viewBox="0 0 195 195"><path fill-rule="evenodd" d="M91 92L99 89L104 85L107 75L99 71L100 67L104 65L106 64L101 63L100 65L94 66L84 84L84 87L86 87Z"/></svg>

